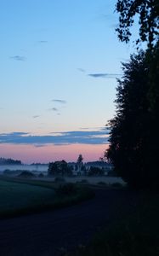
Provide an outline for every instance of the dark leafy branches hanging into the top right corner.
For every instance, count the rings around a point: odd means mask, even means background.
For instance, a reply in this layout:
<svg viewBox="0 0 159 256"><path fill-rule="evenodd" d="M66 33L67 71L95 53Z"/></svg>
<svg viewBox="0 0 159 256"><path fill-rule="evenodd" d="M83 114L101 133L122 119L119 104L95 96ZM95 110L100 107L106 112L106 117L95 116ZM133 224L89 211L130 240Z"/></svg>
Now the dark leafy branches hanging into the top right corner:
<svg viewBox="0 0 159 256"><path fill-rule="evenodd" d="M149 48L156 44L159 32L159 1L158 0L118 0L116 11L120 14L119 26L116 28L118 38L128 43L130 27L133 26L135 16L139 17L139 38L140 41L148 42Z"/></svg>

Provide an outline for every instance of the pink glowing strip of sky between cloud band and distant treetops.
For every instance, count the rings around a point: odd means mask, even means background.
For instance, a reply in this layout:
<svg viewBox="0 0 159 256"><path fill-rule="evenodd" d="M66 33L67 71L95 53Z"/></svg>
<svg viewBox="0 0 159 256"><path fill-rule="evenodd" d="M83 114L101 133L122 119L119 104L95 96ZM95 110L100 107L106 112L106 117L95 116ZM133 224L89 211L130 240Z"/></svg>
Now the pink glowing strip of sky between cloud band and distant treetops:
<svg viewBox="0 0 159 256"><path fill-rule="evenodd" d="M21 160L23 163L32 162L48 163L54 160L76 161L79 154L82 154L85 162L99 160L102 157L108 144L88 145L45 145L35 147L33 145L0 144L0 157Z"/></svg>

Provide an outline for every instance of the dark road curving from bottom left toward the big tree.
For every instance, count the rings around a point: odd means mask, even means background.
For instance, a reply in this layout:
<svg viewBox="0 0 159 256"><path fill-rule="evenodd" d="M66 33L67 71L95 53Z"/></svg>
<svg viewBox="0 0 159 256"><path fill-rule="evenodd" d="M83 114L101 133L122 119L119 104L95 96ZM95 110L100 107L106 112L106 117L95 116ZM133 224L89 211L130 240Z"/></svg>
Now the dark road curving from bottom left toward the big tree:
<svg viewBox="0 0 159 256"><path fill-rule="evenodd" d="M131 212L137 198L131 191L96 189L94 199L73 207L0 220L0 255L65 255L113 222L118 207Z"/></svg>

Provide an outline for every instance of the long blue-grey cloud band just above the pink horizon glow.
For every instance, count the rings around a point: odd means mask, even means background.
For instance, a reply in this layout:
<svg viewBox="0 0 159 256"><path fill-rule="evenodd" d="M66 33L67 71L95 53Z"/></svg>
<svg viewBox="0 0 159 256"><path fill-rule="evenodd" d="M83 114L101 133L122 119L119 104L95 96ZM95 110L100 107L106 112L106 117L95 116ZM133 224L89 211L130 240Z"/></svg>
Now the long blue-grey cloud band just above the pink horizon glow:
<svg viewBox="0 0 159 256"><path fill-rule="evenodd" d="M42 147L47 144L106 144L109 131L63 131L48 135L31 135L29 132L12 132L0 134L0 143L31 144Z"/></svg>

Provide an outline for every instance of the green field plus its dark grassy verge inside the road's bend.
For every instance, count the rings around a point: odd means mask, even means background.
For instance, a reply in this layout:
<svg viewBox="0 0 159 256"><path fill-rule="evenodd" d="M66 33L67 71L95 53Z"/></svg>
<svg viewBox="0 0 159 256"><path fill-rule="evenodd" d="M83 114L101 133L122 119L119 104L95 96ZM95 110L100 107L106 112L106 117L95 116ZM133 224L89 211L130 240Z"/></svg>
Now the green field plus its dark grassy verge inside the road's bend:
<svg viewBox="0 0 159 256"><path fill-rule="evenodd" d="M94 197L92 189L69 183L0 177L0 218L68 207Z"/></svg>

